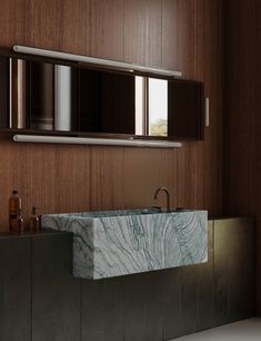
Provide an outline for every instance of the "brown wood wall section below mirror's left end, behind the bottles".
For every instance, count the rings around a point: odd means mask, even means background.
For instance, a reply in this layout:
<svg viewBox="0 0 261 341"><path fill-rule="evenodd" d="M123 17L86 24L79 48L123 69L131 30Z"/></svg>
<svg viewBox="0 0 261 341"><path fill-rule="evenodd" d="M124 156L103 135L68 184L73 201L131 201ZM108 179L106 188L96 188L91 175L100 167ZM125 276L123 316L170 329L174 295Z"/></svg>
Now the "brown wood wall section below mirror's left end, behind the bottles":
<svg viewBox="0 0 261 341"><path fill-rule="evenodd" d="M38 212L90 210L90 149L73 146L1 143L1 222L8 230L8 201L17 188L22 197L26 224L31 207Z"/></svg>

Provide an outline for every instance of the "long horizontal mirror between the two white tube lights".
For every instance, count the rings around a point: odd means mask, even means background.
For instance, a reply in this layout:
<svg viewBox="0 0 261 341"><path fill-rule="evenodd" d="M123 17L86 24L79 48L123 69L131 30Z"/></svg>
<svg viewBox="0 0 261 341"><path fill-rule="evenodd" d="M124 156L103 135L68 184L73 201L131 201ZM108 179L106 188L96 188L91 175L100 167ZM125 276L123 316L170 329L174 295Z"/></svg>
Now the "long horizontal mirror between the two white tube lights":
<svg viewBox="0 0 261 341"><path fill-rule="evenodd" d="M201 138L200 82L6 57L0 68L1 128Z"/></svg>

